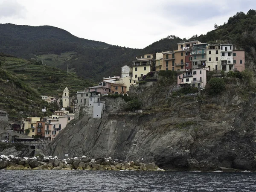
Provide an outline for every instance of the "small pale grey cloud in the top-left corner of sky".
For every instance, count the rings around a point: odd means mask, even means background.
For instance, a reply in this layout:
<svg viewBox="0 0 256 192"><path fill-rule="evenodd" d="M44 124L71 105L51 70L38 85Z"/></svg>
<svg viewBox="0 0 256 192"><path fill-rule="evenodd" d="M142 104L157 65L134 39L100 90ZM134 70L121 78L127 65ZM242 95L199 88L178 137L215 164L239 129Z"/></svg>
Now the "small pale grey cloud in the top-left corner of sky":
<svg viewBox="0 0 256 192"><path fill-rule="evenodd" d="M24 18L26 8L20 5L17 0L4 0L0 3L0 18L2 17L15 17Z"/></svg>

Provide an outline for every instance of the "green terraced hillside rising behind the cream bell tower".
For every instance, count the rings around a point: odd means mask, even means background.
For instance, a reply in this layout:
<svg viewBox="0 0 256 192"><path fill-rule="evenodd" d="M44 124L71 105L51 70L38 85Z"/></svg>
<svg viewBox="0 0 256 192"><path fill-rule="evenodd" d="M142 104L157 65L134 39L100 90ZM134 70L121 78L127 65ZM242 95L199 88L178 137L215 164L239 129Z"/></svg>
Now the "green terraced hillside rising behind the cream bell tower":
<svg viewBox="0 0 256 192"><path fill-rule="evenodd" d="M73 72L67 74L67 71L42 65L40 61L3 54L0 55L0 61L3 69L15 73L25 84L38 90L41 95L61 96L66 86L73 95L77 90L93 85Z"/></svg>

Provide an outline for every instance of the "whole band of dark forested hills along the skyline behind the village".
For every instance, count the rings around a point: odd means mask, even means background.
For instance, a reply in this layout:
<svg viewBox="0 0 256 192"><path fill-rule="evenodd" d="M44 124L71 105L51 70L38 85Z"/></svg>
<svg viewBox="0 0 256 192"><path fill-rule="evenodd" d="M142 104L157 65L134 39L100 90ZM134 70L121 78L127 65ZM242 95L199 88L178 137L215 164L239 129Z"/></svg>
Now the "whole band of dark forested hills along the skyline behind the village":
<svg viewBox="0 0 256 192"><path fill-rule="evenodd" d="M212 26L213 27L213 26ZM206 35L194 35L190 40L232 43L245 49L246 65L254 69L256 62L256 11L239 12L227 23L215 25ZM144 49L108 45L99 41L77 38L52 26L17 26L0 24L0 52L23 58L42 60L44 64L71 71L79 77L100 81L103 77L120 75L121 67L131 66L136 56L177 49L177 43L188 41L169 35Z"/></svg>

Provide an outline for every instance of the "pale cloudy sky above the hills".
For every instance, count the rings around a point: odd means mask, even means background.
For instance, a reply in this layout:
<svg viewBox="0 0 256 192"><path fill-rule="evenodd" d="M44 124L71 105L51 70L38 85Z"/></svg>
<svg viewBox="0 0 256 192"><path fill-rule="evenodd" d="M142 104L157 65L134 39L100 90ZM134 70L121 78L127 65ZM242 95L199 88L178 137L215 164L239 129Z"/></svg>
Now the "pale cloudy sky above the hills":
<svg viewBox="0 0 256 192"><path fill-rule="evenodd" d="M79 37L144 48L168 35L191 38L256 0L0 0L0 23L50 25Z"/></svg>

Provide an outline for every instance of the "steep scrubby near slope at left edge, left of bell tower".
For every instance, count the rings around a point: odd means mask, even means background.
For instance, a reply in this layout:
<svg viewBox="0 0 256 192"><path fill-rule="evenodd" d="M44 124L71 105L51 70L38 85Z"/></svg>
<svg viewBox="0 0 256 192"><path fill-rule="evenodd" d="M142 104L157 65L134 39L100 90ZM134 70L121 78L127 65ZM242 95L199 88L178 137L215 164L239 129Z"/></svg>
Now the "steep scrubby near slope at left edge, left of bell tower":
<svg viewBox="0 0 256 192"><path fill-rule="evenodd" d="M9 119L17 120L23 115L44 116L41 110L47 105L37 90L0 66L0 109L7 111Z"/></svg>

